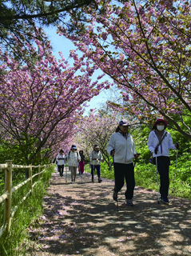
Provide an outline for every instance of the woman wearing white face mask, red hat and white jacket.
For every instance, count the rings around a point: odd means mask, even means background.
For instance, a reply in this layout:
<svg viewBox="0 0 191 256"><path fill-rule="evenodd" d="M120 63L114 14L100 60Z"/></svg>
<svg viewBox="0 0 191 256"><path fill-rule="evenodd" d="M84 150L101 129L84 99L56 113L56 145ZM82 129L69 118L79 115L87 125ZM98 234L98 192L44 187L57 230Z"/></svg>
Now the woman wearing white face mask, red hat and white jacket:
<svg viewBox="0 0 191 256"><path fill-rule="evenodd" d="M162 118L157 119L153 124L153 130L149 134L148 149L153 153L153 164L156 164L160 174L160 194L161 201L169 203L169 149L178 149L178 143L173 144L173 139L169 132L165 131L168 122Z"/></svg>

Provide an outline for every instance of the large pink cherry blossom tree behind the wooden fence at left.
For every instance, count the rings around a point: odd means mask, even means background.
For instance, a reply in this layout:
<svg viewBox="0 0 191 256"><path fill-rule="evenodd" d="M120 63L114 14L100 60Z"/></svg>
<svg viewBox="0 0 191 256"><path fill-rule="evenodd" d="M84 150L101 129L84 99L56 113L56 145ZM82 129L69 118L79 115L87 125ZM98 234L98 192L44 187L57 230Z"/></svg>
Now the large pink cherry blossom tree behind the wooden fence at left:
<svg viewBox="0 0 191 256"><path fill-rule="evenodd" d="M26 42L23 47L17 38L13 40L23 58L21 62L1 50L0 129L6 140L23 147L30 163L47 145L53 145L54 138L59 145L65 132L66 138L72 136L71 126L82 115L84 102L109 85L91 82L94 64L78 58L74 51L70 53L74 65L70 67L62 54L59 61L54 58L48 41L36 40L33 47ZM36 58L30 59L28 53L34 52ZM57 136L58 130L63 131L62 137Z"/></svg>

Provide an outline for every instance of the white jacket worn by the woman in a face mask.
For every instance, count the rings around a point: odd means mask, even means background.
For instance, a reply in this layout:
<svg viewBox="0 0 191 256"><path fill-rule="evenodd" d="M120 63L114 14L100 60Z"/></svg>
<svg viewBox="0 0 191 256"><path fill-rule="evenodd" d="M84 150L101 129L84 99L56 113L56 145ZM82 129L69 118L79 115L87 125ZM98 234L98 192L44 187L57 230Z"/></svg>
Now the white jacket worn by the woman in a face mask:
<svg viewBox="0 0 191 256"><path fill-rule="evenodd" d="M153 157L156 157L154 150L159 143L157 135L155 134L154 130L152 130L149 134L149 139L147 142L148 149L153 153ZM161 145L162 145L162 154L161 154ZM165 156L169 157L169 149L176 150L176 146L173 144L173 139L171 135L167 132L165 138L161 142L161 145L158 147L157 157Z"/></svg>

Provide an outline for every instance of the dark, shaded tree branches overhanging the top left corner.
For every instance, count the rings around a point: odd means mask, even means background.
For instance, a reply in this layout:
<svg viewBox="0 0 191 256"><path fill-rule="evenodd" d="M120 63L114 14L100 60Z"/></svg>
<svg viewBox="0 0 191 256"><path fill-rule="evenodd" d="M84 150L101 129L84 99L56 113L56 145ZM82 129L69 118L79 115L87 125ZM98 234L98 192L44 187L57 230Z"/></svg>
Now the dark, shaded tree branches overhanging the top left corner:
<svg viewBox="0 0 191 256"><path fill-rule="evenodd" d="M96 6L94 0L10 0L0 1L0 43L5 50L14 51L12 35L20 42L25 36L33 43L33 30L43 26L62 24L74 30L75 23L86 21L82 6ZM67 15L70 13L70 16ZM38 40L42 38L39 36ZM14 53L15 54L15 53Z"/></svg>

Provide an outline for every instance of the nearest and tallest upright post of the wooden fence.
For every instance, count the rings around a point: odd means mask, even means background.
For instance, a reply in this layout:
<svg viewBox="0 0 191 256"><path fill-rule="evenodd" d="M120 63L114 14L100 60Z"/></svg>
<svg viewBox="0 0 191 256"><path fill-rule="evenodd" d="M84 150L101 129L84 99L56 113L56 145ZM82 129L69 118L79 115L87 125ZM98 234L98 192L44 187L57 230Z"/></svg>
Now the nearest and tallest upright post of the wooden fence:
<svg viewBox="0 0 191 256"><path fill-rule="evenodd" d="M11 189L12 189L12 160L6 161L8 167L6 169L5 191L8 197L5 200L4 206L4 225L6 226L6 232L10 232L10 211L11 211Z"/></svg>

